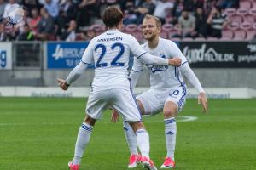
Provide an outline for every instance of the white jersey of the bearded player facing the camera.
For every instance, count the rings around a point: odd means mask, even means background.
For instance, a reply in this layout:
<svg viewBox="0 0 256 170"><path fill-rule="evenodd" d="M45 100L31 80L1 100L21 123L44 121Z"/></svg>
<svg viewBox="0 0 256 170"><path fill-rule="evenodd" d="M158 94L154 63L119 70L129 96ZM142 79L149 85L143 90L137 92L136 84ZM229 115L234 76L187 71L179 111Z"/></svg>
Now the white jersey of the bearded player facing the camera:
<svg viewBox="0 0 256 170"><path fill-rule="evenodd" d="M151 49L148 47L148 42L145 42L142 47L149 53L161 58L178 57L182 59L182 64L188 62L183 53L177 47L175 42L160 38L156 48ZM139 59L134 59L132 71L143 71L143 62ZM145 65L150 72L150 88L156 90L168 90L173 87L181 86L184 84L183 77L177 66L160 66L160 65Z"/></svg>

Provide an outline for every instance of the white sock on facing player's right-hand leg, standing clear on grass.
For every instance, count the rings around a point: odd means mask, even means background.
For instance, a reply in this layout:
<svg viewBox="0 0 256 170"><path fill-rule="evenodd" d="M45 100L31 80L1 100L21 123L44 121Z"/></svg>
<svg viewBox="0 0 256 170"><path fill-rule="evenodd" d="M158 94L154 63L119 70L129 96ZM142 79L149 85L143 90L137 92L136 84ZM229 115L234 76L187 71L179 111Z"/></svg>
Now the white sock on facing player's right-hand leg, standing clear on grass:
<svg viewBox="0 0 256 170"><path fill-rule="evenodd" d="M174 150L176 144L176 133L177 133L177 126L175 118L168 118L164 119L165 122L165 134L166 134L166 150L167 150L167 157L171 157L174 160Z"/></svg>

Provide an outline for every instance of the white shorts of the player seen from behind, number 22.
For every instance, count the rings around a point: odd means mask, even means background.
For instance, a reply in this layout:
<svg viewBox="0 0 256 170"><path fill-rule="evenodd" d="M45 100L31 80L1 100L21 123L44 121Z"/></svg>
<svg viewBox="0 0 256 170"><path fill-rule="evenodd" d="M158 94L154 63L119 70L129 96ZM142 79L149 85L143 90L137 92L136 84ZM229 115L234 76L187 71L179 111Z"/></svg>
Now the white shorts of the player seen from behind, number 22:
<svg viewBox="0 0 256 170"><path fill-rule="evenodd" d="M124 122L142 121L142 116L131 90L108 89L90 92L86 113L98 120L102 119L102 111L112 107L123 116Z"/></svg>

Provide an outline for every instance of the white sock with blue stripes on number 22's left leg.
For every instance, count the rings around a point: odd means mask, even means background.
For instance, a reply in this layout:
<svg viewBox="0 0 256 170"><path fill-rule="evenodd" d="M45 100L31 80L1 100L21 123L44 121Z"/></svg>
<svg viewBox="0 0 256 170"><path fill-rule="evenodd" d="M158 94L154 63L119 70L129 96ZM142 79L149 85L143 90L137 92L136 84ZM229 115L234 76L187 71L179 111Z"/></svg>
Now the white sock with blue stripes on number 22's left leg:
<svg viewBox="0 0 256 170"><path fill-rule="evenodd" d="M83 122L81 127L79 128L79 134L75 146L75 152L74 152L74 158L73 158L73 164L79 165L81 162L81 158L84 154L84 150L86 148L86 145L90 141L90 133L92 132L92 128L89 124Z"/></svg>

